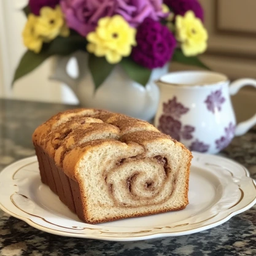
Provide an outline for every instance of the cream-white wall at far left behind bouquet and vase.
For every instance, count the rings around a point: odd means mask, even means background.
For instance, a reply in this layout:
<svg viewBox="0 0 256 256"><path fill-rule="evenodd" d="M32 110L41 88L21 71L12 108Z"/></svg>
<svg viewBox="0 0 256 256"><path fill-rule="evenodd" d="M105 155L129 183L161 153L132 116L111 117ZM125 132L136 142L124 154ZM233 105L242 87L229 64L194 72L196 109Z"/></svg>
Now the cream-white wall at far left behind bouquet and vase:
<svg viewBox="0 0 256 256"><path fill-rule="evenodd" d="M61 102L60 83L48 81L51 60L10 87L18 61L25 52L21 32L26 22L21 11L27 0L0 0L0 97Z"/></svg>

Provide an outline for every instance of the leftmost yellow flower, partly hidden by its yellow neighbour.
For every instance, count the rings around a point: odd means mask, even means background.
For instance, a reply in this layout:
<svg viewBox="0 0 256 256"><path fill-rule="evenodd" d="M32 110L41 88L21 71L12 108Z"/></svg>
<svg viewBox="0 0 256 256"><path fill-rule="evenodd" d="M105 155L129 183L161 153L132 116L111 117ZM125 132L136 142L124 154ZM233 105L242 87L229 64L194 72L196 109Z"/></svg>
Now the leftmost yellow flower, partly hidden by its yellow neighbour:
<svg viewBox="0 0 256 256"><path fill-rule="evenodd" d="M37 17L34 14L28 15L28 21L26 22L25 28L23 29L22 37L23 43L29 50L39 53L42 48L42 37L38 36L35 31L37 24Z"/></svg>

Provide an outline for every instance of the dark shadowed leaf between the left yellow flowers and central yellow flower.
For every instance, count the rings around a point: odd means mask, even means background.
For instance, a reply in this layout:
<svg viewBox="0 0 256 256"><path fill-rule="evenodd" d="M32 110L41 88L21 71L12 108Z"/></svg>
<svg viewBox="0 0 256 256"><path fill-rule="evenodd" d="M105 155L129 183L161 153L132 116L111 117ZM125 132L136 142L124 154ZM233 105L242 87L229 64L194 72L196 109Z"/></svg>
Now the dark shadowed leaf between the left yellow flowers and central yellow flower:
<svg viewBox="0 0 256 256"><path fill-rule="evenodd" d="M69 37L56 37L48 44L48 53L50 55L69 55L77 50L85 51L87 41L85 37L72 35Z"/></svg>

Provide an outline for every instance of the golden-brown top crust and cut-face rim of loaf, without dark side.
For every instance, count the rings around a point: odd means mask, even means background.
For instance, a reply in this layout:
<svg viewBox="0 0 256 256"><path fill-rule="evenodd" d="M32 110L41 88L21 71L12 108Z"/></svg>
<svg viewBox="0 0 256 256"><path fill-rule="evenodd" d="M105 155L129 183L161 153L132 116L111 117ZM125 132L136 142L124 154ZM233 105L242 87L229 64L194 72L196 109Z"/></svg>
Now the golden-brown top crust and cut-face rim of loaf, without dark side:
<svg viewBox="0 0 256 256"><path fill-rule="evenodd" d="M83 159L85 155L88 155L88 152L103 149L103 147L108 147L109 145L116 147L122 145L123 150L127 147L137 147L141 150L138 151L140 155L134 155L134 157L136 156L138 159L144 158L147 151L147 144L154 141L171 141L171 145L182 148L182 150L187 152L188 161L187 171L185 172L186 185L184 206L180 206L179 208L163 208L158 209L158 211L142 211L137 214L129 215L119 214L117 217L109 217L101 219L100 221L91 220L90 214L87 212L87 198L85 193L81 190L82 181L77 175L80 160ZM71 179L72 186L74 190L76 190L76 193L78 193L77 190L80 189L80 198L82 198L83 195L81 202L83 214L79 212L79 216L81 217L83 215L87 223L99 223L126 217L139 217L160 212L176 211L184 209L188 204L188 180L192 154L183 144L166 134L160 133L157 128L147 122L107 111L75 109L61 112L39 126L36 131L34 131L33 142L35 147L41 147L49 158L55 160L56 166ZM54 185L54 182L52 183ZM76 184L78 184L80 188L77 188ZM52 187L54 188L53 185Z"/></svg>

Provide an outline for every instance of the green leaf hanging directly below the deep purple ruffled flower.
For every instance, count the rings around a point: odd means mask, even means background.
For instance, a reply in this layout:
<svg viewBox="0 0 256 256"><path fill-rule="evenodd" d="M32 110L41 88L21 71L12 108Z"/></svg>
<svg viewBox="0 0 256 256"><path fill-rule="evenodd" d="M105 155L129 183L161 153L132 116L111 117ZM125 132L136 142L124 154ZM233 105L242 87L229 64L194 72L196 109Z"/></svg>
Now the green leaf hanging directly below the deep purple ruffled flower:
<svg viewBox="0 0 256 256"><path fill-rule="evenodd" d="M123 58L120 64L122 68L125 69L128 76L135 82L145 86L149 81L151 75L150 69L140 66L131 60L131 58Z"/></svg>

